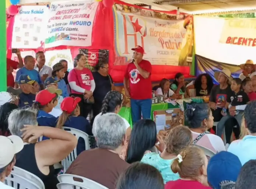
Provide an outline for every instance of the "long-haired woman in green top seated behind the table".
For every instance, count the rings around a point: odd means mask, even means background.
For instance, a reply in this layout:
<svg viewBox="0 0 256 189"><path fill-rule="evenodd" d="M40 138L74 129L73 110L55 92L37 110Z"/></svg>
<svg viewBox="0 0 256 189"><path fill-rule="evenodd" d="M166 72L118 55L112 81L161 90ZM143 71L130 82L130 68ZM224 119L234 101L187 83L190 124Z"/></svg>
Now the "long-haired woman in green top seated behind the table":
<svg viewBox="0 0 256 189"><path fill-rule="evenodd" d="M180 72L175 75L174 81L170 86L170 89L177 95L177 98L187 98L185 78Z"/></svg>

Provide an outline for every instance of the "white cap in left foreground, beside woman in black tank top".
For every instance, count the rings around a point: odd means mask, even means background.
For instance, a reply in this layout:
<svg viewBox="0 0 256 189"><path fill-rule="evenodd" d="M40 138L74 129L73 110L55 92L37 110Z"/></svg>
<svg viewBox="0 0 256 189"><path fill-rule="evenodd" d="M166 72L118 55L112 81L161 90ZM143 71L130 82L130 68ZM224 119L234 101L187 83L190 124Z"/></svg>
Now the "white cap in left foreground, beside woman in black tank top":
<svg viewBox="0 0 256 189"><path fill-rule="evenodd" d="M0 136L0 168L5 167L15 154L21 151L24 147L23 140L19 136Z"/></svg>

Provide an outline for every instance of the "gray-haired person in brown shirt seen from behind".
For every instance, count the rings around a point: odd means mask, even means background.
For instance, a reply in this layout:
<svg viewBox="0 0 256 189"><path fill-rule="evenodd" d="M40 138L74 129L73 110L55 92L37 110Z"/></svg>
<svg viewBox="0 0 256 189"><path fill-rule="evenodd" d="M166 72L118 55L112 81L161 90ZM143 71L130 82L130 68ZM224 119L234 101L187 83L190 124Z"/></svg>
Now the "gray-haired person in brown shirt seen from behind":
<svg viewBox="0 0 256 189"><path fill-rule="evenodd" d="M100 116L96 124L98 148L79 154L66 174L83 176L115 189L119 175L129 166L119 157L126 140L126 126L124 120L114 113Z"/></svg>

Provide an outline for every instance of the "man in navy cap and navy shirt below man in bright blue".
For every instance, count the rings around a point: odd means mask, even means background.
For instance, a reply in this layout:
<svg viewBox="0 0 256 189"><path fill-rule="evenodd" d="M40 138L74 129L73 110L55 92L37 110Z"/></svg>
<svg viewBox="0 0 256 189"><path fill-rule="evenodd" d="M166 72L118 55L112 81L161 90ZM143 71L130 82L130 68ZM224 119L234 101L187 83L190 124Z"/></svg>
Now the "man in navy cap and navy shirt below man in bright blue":
<svg viewBox="0 0 256 189"><path fill-rule="evenodd" d="M29 75L22 74L18 78L18 84L22 93L19 94L19 104L18 107L32 106L36 99L36 95L32 94L33 86L32 84L35 80L32 80Z"/></svg>

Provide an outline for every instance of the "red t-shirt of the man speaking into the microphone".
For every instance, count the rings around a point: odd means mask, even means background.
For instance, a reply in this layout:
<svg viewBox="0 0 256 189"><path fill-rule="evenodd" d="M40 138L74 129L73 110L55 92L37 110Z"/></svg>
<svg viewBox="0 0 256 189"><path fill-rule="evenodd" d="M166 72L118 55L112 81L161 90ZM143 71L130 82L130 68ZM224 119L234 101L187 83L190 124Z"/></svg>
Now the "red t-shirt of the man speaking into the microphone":
<svg viewBox="0 0 256 189"><path fill-rule="evenodd" d="M145 100L152 98L152 83L151 72L152 65L147 60L142 60L139 63L139 67L150 73L148 78L143 78L139 74L138 69L134 63L129 63L125 72L125 78L129 79L130 95L131 99Z"/></svg>

